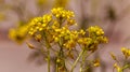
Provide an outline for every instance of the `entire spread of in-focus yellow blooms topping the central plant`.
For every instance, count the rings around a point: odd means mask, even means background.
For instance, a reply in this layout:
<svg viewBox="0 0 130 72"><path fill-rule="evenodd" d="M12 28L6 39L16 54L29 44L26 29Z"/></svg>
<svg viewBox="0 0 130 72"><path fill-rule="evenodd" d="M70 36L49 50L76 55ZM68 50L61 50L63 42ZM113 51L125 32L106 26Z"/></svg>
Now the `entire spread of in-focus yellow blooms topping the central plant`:
<svg viewBox="0 0 130 72"><path fill-rule="evenodd" d="M49 42L56 42L68 49L79 44L94 52L99 44L107 42L104 31L98 26L90 27L87 30L69 30L69 26L76 24L74 16L74 12L66 11L63 8L52 9L51 14L36 17L29 23L28 33L35 35L39 41L41 35L38 37L38 34L46 32Z"/></svg>

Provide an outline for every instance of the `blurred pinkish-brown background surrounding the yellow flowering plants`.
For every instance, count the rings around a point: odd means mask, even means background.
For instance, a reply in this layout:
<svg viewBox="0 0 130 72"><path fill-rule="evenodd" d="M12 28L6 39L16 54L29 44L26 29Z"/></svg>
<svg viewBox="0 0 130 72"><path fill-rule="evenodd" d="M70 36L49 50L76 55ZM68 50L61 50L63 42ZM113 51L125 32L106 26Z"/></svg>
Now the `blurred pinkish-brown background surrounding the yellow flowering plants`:
<svg viewBox="0 0 130 72"><path fill-rule="evenodd" d="M41 64L41 60L31 60L32 49L26 43L9 39L9 30L56 6L75 12L77 29L94 25L104 29L109 42L94 53L102 64L92 72L113 71L110 52L122 60L120 48L130 48L130 0L0 0L0 72L47 72L47 64Z"/></svg>

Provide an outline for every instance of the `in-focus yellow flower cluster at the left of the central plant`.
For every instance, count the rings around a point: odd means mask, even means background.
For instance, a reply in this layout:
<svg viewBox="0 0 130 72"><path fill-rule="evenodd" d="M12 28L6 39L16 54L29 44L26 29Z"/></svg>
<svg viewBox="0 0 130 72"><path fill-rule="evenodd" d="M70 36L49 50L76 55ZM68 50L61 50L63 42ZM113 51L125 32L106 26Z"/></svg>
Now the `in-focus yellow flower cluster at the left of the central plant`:
<svg viewBox="0 0 130 72"><path fill-rule="evenodd" d="M36 17L29 23L29 34L34 35L38 31L48 29L48 25L51 21L51 15L43 15L43 17Z"/></svg>

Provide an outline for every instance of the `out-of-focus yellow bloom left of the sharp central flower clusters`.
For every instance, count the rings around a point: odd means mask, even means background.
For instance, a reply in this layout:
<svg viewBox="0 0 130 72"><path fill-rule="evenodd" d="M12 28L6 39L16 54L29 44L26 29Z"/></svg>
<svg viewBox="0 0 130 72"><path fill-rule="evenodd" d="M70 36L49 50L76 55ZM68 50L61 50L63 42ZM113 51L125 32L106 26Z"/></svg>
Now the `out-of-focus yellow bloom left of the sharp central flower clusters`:
<svg viewBox="0 0 130 72"><path fill-rule="evenodd" d="M10 29L9 38L18 42L23 43L23 41L27 38L28 26L21 26L16 29Z"/></svg>

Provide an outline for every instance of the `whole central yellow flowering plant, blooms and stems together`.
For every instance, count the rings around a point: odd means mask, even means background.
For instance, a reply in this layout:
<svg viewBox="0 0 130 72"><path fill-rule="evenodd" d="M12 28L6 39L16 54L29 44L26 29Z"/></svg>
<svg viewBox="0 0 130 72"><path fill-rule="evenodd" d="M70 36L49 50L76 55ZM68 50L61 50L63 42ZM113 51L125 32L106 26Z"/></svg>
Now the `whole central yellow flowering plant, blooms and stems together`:
<svg viewBox="0 0 130 72"><path fill-rule="evenodd" d="M17 35L22 38L26 35L38 42L41 45L39 48L29 42L27 45L46 55L48 72L51 71L51 62L55 63L55 72L74 72L78 63L80 72L86 72L89 68L84 66L87 58L98 49L100 44L107 43L107 38L99 26L91 26L86 30L70 29L72 26L77 25L74 17L74 12L55 8L49 14L32 18L24 27L25 30L22 28L23 33L21 28L20 32L11 30L10 37L16 40ZM54 61L51 60L52 56L55 58ZM93 60L91 64L99 67L100 60Z"/></svg>

